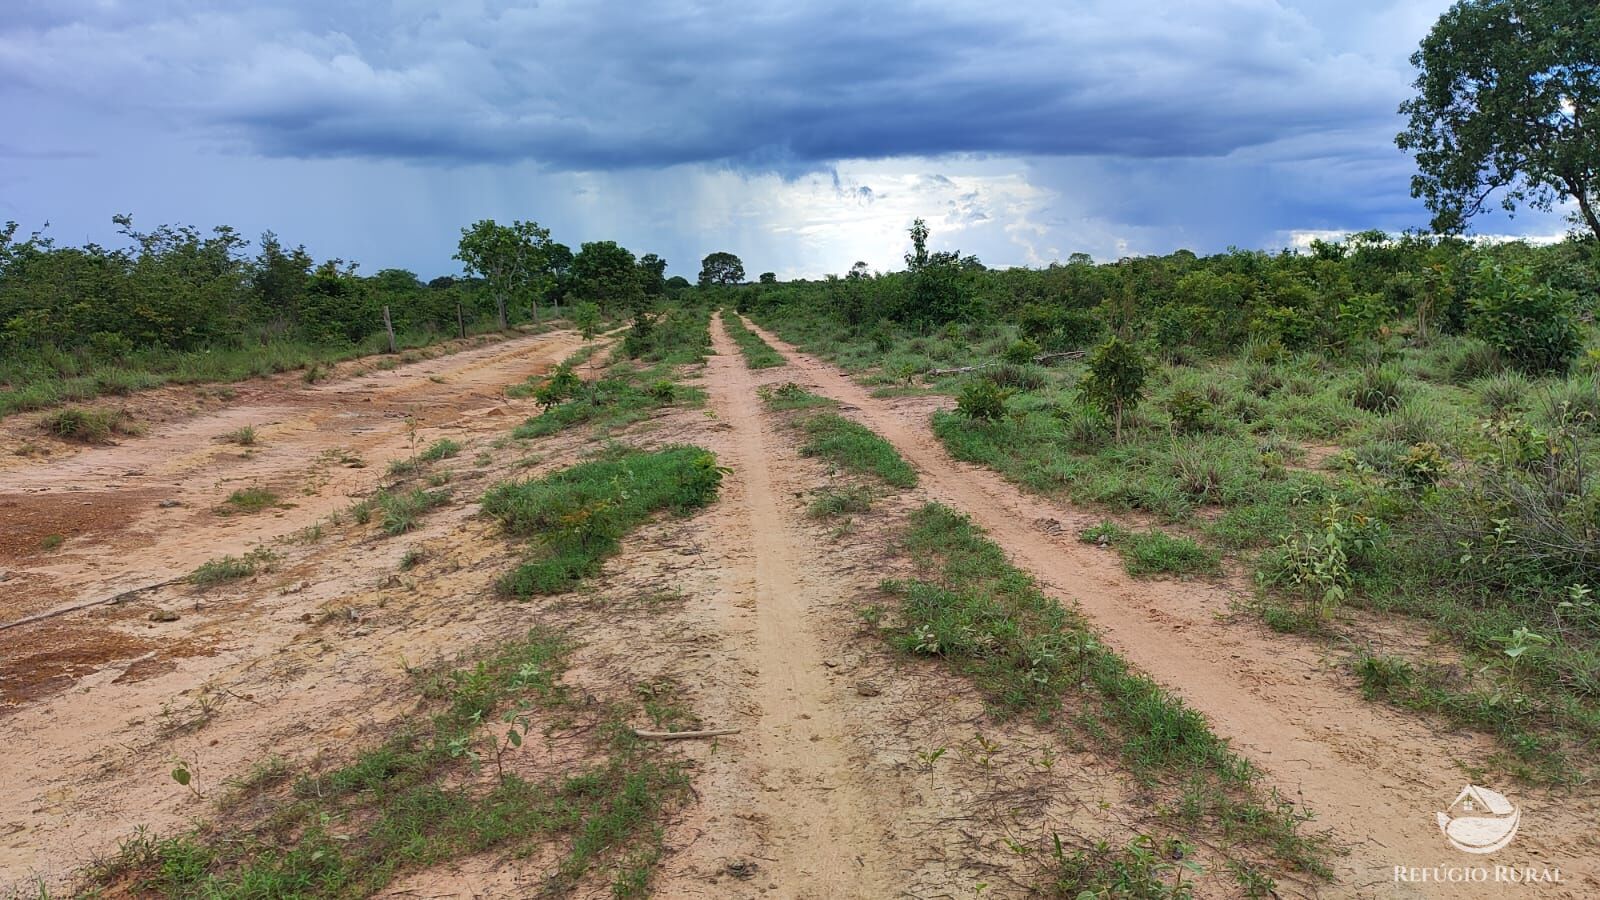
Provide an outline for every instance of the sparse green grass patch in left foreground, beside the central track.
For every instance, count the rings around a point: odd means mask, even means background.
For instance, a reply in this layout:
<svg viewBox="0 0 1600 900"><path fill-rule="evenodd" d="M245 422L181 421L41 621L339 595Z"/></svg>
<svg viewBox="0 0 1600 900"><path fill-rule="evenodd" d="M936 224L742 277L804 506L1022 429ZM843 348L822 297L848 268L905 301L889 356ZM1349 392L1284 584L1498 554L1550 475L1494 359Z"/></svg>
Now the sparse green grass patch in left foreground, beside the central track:
<svg viewBox="0 0 1600 900"><path fill-rule="evenodd" d="M483 852L565 847L544 892L586 879L648 894L662 817L683 799L678 764L640 743L626 709L582 703L562 682L571 647L549 629L419 676L424 708L331 772L264 767L221 801L221 822L173 838L138 833L93 881L138 895L355 898L395 878ZM594 757L525 775L538 732L571 733ZM478 772L490 778L474 777ZM179 764L181 781L192 778Z"/></svg>

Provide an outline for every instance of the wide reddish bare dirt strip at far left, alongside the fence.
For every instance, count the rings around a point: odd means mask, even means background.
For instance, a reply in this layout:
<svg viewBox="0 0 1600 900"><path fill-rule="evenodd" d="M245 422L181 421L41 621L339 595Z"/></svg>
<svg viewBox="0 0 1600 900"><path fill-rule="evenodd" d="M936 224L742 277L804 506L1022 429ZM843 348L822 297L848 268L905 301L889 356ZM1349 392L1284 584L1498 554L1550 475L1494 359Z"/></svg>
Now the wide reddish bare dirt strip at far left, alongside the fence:
<svg viewBox="0 0 1600 900"><path fill-rule="evenodd" d="M426 445L434 431L493 416L506 384L549 368L578 344L570 331L518 338L235 404L157 434L6 472L0 527L56 520L70 508L74 520L96 530L48 557L24 554L10 567L27 577L38 597L58 602L0 599L0 620L182 575L222 552L240 554L293 533L371 488L389 458L405 456L410 420ZM248 456L221 440L243 426L259 432L259 447ZM320 456L336 450L362 455L368 468L349 469ZM293 508L213 512L234 488L251 484L272 485Z"/></svg>

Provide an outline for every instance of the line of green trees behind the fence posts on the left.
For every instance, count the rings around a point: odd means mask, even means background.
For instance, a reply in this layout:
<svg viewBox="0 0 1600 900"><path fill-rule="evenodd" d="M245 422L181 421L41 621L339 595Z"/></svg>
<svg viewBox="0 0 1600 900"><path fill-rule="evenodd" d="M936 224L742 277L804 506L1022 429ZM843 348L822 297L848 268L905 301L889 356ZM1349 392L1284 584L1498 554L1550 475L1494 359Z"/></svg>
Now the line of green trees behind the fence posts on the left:
<svg viewBox="0 0 1600 900"><path fill-rule="evenodd" d="M563 306L622 317L690 290L667 261L613 240L578 251L533 221L483 219L461 229L462 275L424 282L408 269L360 274L346 259L317 261L304 245L266 232L251 245L235 229L134 227L114 216L123 247L59 245L43 232L0 227L0 348L83 351L117 359L136 349L238 349L280 340L360 344L384 328L456 333L490 320L539 322ZM701 283L744 279L731 253L706 258Z"/></svg>

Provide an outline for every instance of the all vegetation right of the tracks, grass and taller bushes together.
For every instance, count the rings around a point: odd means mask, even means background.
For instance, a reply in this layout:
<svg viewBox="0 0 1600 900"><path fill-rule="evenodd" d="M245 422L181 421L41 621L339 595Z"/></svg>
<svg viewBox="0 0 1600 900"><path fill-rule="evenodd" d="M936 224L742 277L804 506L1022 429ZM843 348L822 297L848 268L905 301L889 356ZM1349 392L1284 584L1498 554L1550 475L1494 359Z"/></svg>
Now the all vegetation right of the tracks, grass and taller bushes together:
<svg viewBox="0 0 1600 900"><path fill-rule="evenodd" d="M1130 573L1242 565L1370 697L1571 780L1600 762L1595 296L1592 242L1357 234L1040 271L914 247L738 306L880 394L952 397L954 456L1102 511L1090 540ZM1435 647L1381 645L1357 609Z"/></svg>

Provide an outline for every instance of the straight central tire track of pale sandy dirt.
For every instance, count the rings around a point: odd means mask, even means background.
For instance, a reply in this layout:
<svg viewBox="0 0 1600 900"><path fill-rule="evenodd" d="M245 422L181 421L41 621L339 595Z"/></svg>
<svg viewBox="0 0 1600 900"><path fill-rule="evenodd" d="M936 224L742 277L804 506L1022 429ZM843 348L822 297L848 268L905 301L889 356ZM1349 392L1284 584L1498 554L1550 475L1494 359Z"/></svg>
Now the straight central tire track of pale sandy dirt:
<svg viewBox="0 0 1600 900"><path fill-rule="evenodd" d="M744 488L741 525L752 549L738 578L755 601L739 663L754 676L755 722L731 743L760 767L771 874L782 897L888 897L894 866L880 807L851 762L837 689L808 625L827 577L797 559L805 536L774 493L755 378L720 322L712 346L706 388L718 418L733 426L725 461Z"/></svg>

